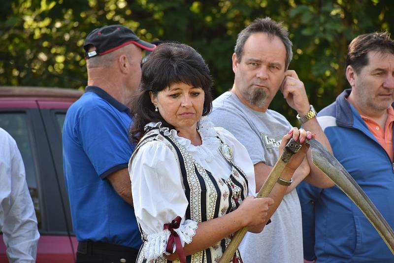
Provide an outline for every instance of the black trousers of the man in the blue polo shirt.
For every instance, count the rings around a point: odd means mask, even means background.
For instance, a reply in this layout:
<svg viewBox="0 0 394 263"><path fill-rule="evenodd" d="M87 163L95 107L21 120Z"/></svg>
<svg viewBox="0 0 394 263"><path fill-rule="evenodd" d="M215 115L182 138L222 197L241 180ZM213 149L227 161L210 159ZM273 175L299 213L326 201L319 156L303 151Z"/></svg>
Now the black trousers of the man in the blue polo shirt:
<svg viewBox="0 0 394 263"><path fill-rule="evenodd" d="M76 263L135 263L138 250L120 245L83 241L78 243Z"/></svg>

